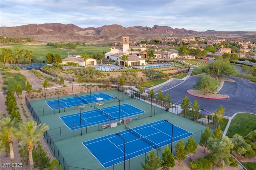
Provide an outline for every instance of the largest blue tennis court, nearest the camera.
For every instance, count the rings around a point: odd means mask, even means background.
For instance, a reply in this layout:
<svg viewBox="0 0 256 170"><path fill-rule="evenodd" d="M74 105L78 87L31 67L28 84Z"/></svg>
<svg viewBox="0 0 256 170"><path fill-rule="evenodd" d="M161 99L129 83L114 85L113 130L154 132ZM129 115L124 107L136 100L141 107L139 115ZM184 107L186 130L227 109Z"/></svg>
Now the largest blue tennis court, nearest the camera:
<svg viewBox="0 0 256 170"><path fill-rule="evenodd" d="M127 130L119 132L120 136L125 140L125 145L122 138L116 134L110 134L82 143L104 168L108 168L123 162L124 146L125 160L129 160L145 152L150 152L152 148L156 149L166 146L171 142L193 135L193 133L175 125L173 125L172 132L172 124L164 120L135 128L129 128L126 124L125 128Z"/></svg>

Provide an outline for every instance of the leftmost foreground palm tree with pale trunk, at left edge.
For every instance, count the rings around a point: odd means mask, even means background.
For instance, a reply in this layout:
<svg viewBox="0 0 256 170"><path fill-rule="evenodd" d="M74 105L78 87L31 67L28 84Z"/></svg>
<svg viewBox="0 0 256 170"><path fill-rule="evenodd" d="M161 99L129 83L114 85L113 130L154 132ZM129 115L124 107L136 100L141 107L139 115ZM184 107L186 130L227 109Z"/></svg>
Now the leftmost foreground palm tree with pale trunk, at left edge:
<svg viewBox="0 0 256 170"><path fill-rule="evenodd" d="M0 123L1 127L1 140L7 139L7 142L9 143L10 147L10 158L11 162L14 162L14 152L12 147L12 137L14 134L16 134L18 130L18 119L16 118L9 118L9 117L3 117ZM2 142L1 142L2 143ZM15 168L13 168L15 169Z"/></svg>

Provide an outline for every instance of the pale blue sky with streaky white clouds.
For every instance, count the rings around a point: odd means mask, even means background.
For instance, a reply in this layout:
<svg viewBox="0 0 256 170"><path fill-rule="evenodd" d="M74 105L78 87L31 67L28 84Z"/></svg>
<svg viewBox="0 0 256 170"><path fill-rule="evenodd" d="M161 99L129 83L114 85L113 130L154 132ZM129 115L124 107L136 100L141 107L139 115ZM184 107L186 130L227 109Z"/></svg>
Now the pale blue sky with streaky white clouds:
<svg viewBox="0 0 256 170"><path fill-rule="evenodd" d="M44 23L256 31L256 0L0 0L0 26Z"/></svg>

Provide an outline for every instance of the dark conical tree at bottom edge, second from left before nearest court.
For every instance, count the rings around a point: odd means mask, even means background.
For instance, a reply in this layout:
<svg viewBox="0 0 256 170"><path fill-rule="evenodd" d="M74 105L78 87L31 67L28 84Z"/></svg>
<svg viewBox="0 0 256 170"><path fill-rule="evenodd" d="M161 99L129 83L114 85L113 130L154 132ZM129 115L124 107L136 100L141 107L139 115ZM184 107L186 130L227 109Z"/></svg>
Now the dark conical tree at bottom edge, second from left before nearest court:
<svg viewBox="0 0 256 170"><path fill-rule="evenodd" d="M169 170L170 167L175 166L174 157L171 154L171 150L168 146L165 147L164 152L162 153L162 163L161 167L164 170Z"/></svg>

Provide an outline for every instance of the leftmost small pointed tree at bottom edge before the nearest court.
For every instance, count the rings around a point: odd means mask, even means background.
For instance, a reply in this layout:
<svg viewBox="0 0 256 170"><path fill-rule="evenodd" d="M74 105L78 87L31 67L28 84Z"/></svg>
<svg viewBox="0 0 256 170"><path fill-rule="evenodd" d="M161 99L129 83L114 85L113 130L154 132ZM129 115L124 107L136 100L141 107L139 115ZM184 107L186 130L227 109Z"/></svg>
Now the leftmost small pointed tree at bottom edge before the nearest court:
<svg viewBox="0 0 256 170"><path fill-rule="evenodd" d="M145 157L145 164L142 162L140 164L142 166L142 170L157 170L161 164L160 156L155 156L154 149L152 148L149 155Z"/></svg>

